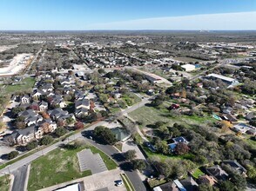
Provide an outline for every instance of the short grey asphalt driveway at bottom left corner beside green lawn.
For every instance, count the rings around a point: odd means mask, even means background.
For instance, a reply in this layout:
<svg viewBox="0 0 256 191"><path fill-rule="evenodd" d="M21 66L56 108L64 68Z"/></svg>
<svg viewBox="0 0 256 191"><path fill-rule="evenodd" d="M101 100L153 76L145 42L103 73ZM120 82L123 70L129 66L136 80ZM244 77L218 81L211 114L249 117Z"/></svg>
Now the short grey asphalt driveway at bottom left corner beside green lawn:
<svg viewBox="0 0 256 191"><path fill-rule="evenodd" d="M27 170L28 170L28 166L24 165L21 168L17 168L17 170L12 173L12 175L14 175L14 181L13 181L13 186L11 188L11 191L24 190Z"/></svg>

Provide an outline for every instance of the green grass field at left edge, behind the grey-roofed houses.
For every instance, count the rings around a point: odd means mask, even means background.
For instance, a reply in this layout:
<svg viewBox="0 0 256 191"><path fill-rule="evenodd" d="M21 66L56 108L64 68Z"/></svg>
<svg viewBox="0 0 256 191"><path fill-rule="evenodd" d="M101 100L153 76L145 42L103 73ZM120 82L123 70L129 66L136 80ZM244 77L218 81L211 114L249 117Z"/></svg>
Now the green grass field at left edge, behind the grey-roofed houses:
<svg viewBox="0 0 256 191"><path fill-rule="evenodd" d="M15 85L6 85L1 87L1 93L3 94L13 94L18 91L31 90L35 84L35 78L27 77L21 82Z"/></svg>

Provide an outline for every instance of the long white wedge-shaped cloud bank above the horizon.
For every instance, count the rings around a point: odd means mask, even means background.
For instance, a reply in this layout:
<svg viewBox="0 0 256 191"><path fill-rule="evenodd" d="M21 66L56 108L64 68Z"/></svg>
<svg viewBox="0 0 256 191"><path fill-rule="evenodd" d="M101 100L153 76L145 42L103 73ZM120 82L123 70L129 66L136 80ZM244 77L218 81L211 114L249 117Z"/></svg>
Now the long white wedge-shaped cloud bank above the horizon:
<svg viewBox="0 0 256 191"><path fill-rule="evenodd" d="M96 23L86 30L256 30L256 11Z"/></svg>

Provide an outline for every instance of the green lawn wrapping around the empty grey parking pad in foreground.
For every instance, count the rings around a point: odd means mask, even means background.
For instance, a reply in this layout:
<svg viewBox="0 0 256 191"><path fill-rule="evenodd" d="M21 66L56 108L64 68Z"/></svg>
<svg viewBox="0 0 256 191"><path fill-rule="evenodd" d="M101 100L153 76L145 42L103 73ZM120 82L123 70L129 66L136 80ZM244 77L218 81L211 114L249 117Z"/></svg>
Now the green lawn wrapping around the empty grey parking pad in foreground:
<svg viewBox="0 0 256 191"><path fill-rule="evenodd" d="M90 170L83 173L79 170L77 152L84 148L91 148L91 152L94 154L99 153L108 169L117 168L117 164L110 157L91 145L84 145L77 149L57 148L31 163L28 190L47 188L91 175Z"/></svg>

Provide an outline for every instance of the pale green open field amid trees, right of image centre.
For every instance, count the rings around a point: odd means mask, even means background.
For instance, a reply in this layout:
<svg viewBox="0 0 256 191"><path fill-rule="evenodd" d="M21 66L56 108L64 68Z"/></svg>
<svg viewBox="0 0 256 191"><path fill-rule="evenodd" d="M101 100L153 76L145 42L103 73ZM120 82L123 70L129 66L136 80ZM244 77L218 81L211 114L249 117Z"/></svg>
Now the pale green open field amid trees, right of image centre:
<svg viewBox="0 0 256 191"><path fill-rule="evenodd" d="M165 104L165 103L164 103ZM171 116L168 109L165 106L156 109L149 106L141 107L129 114L135 121L142 122L141 127L146 125L154 124L155 122L167 122L168 125L173 125L175 122L184 124L185 126L199 125L202 123L213 122L211 116L199 117L199 116L188 116L180 115L179 117Z"/></svg>

